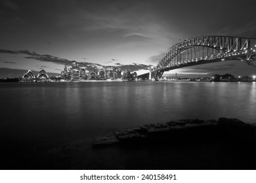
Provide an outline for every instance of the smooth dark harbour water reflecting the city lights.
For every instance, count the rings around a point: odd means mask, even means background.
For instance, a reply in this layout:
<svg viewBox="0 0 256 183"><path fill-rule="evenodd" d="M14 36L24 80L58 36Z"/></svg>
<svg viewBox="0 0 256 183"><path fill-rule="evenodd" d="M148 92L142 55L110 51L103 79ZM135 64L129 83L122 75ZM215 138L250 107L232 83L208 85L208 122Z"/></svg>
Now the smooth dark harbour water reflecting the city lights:
<svg viewBox="0 0 256 183"><path fill-rule="evenodd" d="M95 137L137 125L219 117L253 124L256 119L255 82L2 83L0 97L3 159L10 152L37 156L75 142L87 146L91 159ZM8 165L1 169L15 169Z"/></svg>

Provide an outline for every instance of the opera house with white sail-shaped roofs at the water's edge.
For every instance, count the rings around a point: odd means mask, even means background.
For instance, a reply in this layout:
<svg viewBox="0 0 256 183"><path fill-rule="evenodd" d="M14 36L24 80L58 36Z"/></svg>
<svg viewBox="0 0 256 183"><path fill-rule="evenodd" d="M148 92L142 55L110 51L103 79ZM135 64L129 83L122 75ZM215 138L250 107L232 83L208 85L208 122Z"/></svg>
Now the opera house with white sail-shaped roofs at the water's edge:
<svg viewBox="0 0 256 183"><path fill-rule="evenodd" d="M37 76L32 71L28 70L26 74L22 76L20 82L51 82L51 78L47 75L45 70L41 70Z"/></svg>

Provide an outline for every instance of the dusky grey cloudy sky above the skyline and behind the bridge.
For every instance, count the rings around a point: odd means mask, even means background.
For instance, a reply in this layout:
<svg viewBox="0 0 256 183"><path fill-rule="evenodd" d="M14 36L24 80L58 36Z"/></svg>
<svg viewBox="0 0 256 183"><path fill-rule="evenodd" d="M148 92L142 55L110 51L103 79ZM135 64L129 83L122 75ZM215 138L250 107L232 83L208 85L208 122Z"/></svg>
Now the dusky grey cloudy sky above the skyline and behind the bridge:
<svg viewBox="0 0 256 183"><path fill-rule="evenodd" d="M77 61L86 69L96 64L146 73L180 39L256 37L254 4L249 0L1 0L0 68L60 74L65 63ZM173 73L255 75L256 67L224 61L165 74Z"/></svg>

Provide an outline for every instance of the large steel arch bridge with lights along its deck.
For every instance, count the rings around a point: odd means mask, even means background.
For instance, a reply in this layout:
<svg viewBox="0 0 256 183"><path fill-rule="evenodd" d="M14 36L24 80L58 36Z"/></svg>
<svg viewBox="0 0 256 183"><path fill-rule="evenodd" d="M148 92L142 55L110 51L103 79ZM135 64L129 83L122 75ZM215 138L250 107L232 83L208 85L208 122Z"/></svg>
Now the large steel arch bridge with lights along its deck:
<svg viewBox="0 0 256 183"><path fill-rule="evenodd" d="M151 75L159 80L165 71L225 60L242 60L256 66L256 39L249 37L203 36L171 46Z"/></svg>

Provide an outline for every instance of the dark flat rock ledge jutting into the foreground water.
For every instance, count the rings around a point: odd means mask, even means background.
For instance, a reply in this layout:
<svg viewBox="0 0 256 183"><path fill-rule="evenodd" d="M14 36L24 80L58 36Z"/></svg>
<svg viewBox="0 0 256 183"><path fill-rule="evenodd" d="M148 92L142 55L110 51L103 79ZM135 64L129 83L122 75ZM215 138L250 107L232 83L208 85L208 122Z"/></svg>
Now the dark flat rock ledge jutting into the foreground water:
<svg viewBox="0 0 256 183"><path fill-rule="evenodd" d="M256 128L236 118L219 118L219 120L184 119L165 124L140 125L123 131L109 133L98 137L93 146L113 144L141 144L142 142L189 142L240 140L254 141Z"/></svg>

